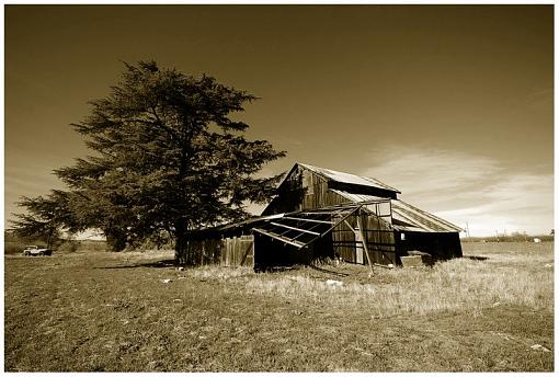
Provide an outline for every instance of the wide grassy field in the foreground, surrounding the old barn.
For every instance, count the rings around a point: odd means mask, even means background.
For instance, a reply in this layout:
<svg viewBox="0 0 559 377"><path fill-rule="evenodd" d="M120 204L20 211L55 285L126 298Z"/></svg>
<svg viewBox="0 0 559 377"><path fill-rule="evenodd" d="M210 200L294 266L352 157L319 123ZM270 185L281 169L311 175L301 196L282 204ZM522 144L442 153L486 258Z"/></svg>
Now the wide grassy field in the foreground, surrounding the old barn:
<svg viewBox="0 0 559 377"><path fill-rule="evenodd" d="M469 258L370 277L349 264L176 271L171 252L7 255L4 366L551 372L552 248L465 243Z"/></svg>

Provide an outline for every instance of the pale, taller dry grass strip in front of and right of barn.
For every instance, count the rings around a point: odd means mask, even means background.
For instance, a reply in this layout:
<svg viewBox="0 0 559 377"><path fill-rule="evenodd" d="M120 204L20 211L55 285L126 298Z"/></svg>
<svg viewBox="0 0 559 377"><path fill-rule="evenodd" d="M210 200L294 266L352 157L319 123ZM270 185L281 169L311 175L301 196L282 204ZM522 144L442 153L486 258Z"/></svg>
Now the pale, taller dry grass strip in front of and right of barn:
<svg viewBox="0 0 559 377"><path fill-rule="evenodd" d="M484 245L477 244L478 248ZM338 274L345 272L346 277L317 274L309 267L282 274L255 274L248 267L206 266L189 274L228 282L231 290L254 295L330 306L358 305L378 318L454 310L478 315L483 308L499 305L552 311L554 270L546 266L552 263L552 251L522 253L506 247L501 244L501 251L494 252L491 250L494 244L489 244L486 254L491 256L486 261L465 258L437 263L433 269L377 267L373 276L360 282L355 282L355 276L363 273L364 267L352 265L323 269ZM514 243L510 247L518 249ZM332 278L344 284L328 285L327 279Z"/></svg>

